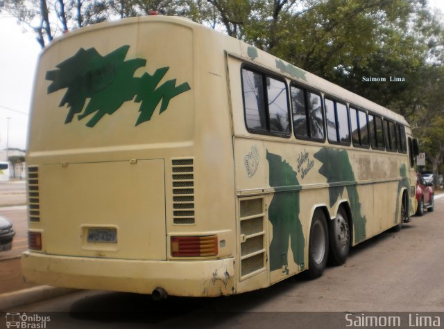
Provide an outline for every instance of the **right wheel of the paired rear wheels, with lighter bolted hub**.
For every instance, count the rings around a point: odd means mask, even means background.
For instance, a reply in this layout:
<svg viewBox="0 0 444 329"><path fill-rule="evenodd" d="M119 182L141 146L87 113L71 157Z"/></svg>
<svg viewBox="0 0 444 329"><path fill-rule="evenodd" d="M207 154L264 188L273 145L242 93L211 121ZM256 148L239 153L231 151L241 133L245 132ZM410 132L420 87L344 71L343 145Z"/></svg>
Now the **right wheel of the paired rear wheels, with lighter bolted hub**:
<svg viewBox="0 0 444 329"><path fill-rule="evenodd" d="M350 226L344 208L339 208L336 218L330 221L330 263L343 265L350 251Z"/></svg>

